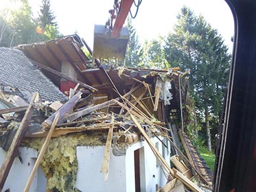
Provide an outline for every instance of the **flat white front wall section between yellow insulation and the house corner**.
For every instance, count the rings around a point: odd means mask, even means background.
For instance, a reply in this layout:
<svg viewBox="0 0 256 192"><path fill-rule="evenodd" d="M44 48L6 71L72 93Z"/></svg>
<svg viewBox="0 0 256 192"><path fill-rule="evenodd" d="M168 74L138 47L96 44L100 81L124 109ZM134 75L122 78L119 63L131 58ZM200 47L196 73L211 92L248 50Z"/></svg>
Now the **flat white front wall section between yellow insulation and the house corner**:
<svg viewBox="0 0 256 192"><path fill-rule="evenodd" d="M126 156L114 156L111 150L108 180L100 173L105 146L76 147L78 174L75 187L83 192L126 191Z"/></svg>

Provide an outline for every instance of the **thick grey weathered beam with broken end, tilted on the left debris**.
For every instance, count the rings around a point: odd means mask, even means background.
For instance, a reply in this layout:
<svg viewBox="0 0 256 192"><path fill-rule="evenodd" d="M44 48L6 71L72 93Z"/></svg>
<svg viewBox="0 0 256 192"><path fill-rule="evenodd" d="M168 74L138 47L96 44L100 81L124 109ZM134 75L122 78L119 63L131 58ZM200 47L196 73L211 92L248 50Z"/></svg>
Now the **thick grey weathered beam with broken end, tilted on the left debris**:
<svg viewBox="0 0 256 192"><path fill-rule="evenodd" d="M64 115L66 115L66 113L69 112L69 110L73 109L75 104L78 103L79 99L81 99L81 95L82 93L79 91L71 99L69 99L69 101L67 101L63 106L61 106L56 112L54 112L53 115L45 119L45 121L43 121L43 123L41 124L42 128L43 129L49 128L52 122L54 121L54 118L57 113L60 114L60 119L58 119L58 123L60 123L60 120L64 117Z"/></svg>

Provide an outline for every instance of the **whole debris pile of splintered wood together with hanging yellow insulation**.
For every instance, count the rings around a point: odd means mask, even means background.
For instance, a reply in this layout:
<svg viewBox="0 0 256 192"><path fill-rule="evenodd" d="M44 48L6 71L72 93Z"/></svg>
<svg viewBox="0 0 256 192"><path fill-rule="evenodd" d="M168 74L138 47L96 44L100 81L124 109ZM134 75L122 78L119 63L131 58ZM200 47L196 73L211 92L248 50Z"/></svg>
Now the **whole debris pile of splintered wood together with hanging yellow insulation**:
<svg viewBox="0 0 256 192"><path fill-rule="evenodd" d="M65 104L60 101L40 101L36 93L23 99L25 97L15 92L16 88L1 88L0 144L12 156L7 160L13 161L22 140L22 145L40 152L37 161L47 178L47 189L75 191L78 171L76 146L106 145L101 171L107 180L111 145L127 147L146 140L169 181L159 191L178 189L181 185L191 191L202 191L191 180L209 183L173 142L168 125L170 122L167 121L171 110L181 111L179 101L184 94L180 94L179 88L182 86L179 83L187 72L181 73L179 68L169 71L139 68L101 70L105 71L112 84L108 92L111 94L101 92L100 88L98 93L84 91L77 84L70 90L69 100ZM111 78L113 73L120 79L126 78L125 83L116 86ZM161 142L161 137L170 141L174 154L179 155L179 158L175 158L176 169L170 167L156 149L150 140L153 136ZM8 175L6 167L2 166L1 171ZM0 176L0 184L1 180L4 177ZM33 176L27 182L27 190L32 180Z"/></svg>

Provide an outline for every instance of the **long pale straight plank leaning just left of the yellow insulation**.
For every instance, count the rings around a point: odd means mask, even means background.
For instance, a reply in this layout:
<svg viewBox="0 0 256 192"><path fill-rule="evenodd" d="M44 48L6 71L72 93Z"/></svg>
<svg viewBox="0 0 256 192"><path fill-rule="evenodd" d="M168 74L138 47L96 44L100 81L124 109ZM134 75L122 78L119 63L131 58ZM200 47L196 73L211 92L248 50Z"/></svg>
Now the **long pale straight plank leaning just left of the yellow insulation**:
<svg viewBox="0 0 256 192"><path fill-rule="evenodd" d="M51 124L51 128L50 128L50 130L49 130L49 132L47 134L47 137L45 139L45 143L43 143L43 146L42 146L42 148L40 150L40 153L38 154L38 157L36 159L36 163L35 163L35 165L33 167L32 172L30 173L30 178L28 178L27 184L26 184L25 189L24 189L23 192L27 192L27 191L30 190L30 186L32 184L32 181L33 181L34 176L36 174L36 171L38 169L39 163L43 159L43 155L45 154L47 146L49 145L49 142L50 142L50 139L51 139L51 135L54 132L54 128L55 128L55 126L56 126L56 124L58 122L59 117L60 117L59 113L54 117L54 122Z"/></svg>

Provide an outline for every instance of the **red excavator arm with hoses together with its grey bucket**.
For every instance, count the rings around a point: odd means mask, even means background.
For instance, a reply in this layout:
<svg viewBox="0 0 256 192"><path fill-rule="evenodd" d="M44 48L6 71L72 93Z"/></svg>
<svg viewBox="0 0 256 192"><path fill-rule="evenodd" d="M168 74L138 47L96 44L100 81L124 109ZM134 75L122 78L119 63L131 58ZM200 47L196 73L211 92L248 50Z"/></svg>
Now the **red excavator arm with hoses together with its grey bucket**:
<svg viewBox="0 0 256 192"><path fill-rule="evenodd" d="M93 58L124 60L129 40L128 28L123 27L134 0L115 0L106 25L95 25ZM137 3L137 8L141 0ZM135 4L136 5L136 4Z"/></svg>

